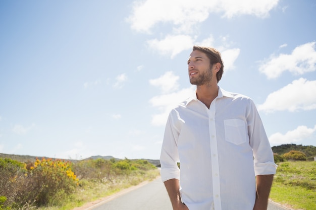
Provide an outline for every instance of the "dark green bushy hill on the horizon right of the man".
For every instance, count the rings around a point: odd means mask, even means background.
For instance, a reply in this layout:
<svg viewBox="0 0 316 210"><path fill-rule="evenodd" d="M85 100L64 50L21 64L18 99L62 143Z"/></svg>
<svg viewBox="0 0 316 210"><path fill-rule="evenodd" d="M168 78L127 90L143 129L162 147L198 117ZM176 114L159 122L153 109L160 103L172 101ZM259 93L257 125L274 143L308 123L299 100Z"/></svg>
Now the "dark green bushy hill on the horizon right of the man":
<svg viewBox="0 0 316 210"><path fill-rule="evenodd" d="M285 153L290 152L291 150L301 151L305 153L307 157L316 156L316 147L314 146L302 146L302 145L295 145L295 144L287 144L287 145L280 145L272 147L273 153L278 155L283 155Z"/></svg>

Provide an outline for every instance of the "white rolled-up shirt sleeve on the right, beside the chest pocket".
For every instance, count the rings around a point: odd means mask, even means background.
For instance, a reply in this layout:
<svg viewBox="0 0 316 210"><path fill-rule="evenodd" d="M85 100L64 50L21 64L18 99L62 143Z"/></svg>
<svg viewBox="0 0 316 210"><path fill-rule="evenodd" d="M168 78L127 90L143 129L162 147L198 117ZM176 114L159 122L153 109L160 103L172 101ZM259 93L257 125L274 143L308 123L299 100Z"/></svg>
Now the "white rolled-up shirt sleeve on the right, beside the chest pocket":
<svg viewBox="0 0 316 210"><path fill-rule="evenodd" d="M274 163L269 139L252 100L249 100L247 123L250 146L254 157L255 175L275 174L277 165Z"/></svg>

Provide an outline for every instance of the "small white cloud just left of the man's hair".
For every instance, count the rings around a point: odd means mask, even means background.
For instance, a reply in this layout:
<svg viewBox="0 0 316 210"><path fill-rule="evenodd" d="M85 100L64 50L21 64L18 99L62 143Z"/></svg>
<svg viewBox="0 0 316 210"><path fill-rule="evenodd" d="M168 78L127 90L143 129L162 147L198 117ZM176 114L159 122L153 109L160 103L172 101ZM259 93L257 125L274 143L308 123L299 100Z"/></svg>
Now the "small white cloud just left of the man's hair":
<svg viewBox="0 0 316 210"><path fill-rule="evenodd" d="M168 35L163 40L148 40L149 48L159 51L163 55L171 55L171 58L183 50L192 48L193 39L188 35Z"/></svg>

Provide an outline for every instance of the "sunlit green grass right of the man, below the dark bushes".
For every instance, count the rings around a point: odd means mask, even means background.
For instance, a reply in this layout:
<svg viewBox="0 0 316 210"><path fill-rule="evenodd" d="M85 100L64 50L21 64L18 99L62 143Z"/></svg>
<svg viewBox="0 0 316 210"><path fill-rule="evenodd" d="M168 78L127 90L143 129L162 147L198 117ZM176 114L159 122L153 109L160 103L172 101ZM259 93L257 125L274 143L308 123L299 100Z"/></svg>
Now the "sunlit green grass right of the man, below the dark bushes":
<svg viewBox="0 0 316 210"><path fill-rule="evenodd" d="M270 198L293 209L316 210L316 162L278 165Z"/></svg>

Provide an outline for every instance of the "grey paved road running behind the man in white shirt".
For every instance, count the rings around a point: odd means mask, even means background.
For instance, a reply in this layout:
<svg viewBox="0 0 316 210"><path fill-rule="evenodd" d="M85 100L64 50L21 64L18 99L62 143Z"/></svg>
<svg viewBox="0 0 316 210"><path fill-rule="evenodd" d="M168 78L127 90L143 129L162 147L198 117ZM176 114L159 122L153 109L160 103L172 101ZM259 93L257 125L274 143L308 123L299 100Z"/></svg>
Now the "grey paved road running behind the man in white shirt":
<svg viewBox="0 0 316 210"><path fill-rule="evenodd" d="M172 206L161 179L121 193L85 210L172 210ZM268 210L289 210L269 203Z"/></svg>

